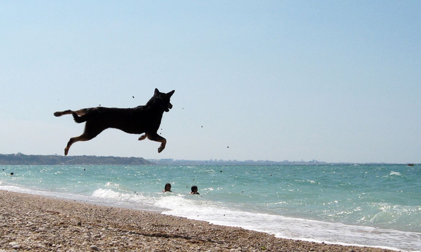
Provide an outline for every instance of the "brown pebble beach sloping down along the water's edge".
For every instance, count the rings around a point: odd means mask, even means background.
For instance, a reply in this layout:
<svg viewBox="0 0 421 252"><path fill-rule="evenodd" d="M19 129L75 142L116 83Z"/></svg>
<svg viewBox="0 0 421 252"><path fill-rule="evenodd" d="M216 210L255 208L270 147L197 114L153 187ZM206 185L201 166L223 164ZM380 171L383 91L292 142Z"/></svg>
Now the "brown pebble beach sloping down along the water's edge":
<svg viewBox="0 0 421 252"><path fill-rule="evenodd" d="M0 190L0 251L393 251Z"/></svg>

